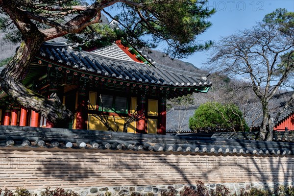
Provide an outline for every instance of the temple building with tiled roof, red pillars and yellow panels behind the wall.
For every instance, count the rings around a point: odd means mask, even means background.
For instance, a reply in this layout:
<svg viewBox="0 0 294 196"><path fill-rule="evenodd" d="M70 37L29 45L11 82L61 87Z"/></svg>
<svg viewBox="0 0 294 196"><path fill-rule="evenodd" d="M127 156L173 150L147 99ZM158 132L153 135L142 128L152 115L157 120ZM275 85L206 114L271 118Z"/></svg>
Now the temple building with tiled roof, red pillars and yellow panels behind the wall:
<svg viewBox="0 0 294 196"><path fill-rule="evenodd" d="M64 42L44 43L23 83L45 97L59 98L73 112L66 128L150 134L166 133L167 99L207 93L212 85L206 75L161 65L121 41L91 51ZM13 103L4 91L0 124L54 127L37 112Z"/></svg>

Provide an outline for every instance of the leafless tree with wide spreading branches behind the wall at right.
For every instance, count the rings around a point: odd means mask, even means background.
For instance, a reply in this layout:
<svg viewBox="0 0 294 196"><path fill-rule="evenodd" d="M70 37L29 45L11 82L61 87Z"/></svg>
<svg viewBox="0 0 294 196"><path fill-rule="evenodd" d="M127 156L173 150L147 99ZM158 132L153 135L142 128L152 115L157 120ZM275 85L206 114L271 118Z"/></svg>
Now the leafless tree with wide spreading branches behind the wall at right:
<svg viewBox="0 0 294 196"><path fill-rule="evenodd" d="M290 75L294 69L294 32L282 31L281 26L277 22L260 22L251 29L222 38L208 61L213 69L250 81L262 105L261 140L272 140L272 128L268 128L270 99L293 81Z"/></svg>

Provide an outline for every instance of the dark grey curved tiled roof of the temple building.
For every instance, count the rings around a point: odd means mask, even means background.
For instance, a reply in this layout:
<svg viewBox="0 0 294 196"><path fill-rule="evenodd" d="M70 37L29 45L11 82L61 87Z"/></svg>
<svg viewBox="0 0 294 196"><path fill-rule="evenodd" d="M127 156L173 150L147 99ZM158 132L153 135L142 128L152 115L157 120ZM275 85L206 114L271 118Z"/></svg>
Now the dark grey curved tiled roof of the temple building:
<svg viewBox="0 0 294 196"><path fill-rule="evenodd" d="M45 43L39 55L59 65L119 80L170 87L211 86L205 75L181 71L158 63L149 66L125 59L127 57L122 53L117 53L116 56L109 55L108 53L113 49L118 48L111 45L90 52L76 51L66 43Z"/></svg>

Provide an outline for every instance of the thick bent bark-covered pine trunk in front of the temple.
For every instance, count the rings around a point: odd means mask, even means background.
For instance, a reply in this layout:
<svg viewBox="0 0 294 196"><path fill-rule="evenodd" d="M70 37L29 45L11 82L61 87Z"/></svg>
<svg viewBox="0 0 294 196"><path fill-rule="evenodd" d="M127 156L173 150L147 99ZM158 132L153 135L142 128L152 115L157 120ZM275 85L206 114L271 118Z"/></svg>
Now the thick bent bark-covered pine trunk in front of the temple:
<svg viewBox="0 0 294 196"><path fill-rule="evenodd" d="M64 104L27 89L21 80L43 42L43 35L39 31L26 36L13 59L2 70L0 84L17 103L40 113L54 123L55 127L64 127L73 118L72 112Z"/></svg>

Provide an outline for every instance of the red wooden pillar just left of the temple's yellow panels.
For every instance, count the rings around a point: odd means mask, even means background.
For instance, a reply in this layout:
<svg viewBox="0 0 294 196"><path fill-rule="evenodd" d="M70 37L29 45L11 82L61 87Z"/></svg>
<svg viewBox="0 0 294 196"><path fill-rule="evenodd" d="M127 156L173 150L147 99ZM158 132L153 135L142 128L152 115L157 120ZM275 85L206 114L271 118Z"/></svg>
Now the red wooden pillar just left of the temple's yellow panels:
<svg viewBox="0 0 294 196"><path fill-rule="evenodd" d="M87 105L86 105L86 88L82 87L78 91L77 111L76 111L76 129L86 129L87 120Z"/></svg>

